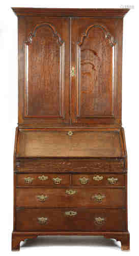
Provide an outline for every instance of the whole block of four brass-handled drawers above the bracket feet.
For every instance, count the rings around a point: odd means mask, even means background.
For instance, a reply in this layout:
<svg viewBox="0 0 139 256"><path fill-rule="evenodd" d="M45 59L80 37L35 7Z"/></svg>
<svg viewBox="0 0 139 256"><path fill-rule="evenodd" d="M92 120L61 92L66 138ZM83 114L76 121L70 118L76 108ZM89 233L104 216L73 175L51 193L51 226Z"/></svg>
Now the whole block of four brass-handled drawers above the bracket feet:
<svg viewBox="0 0 139 256"><path fill-rule="evenodd" d="M125 230L125 177L103 172L17 173L16 228Z"/></svg>

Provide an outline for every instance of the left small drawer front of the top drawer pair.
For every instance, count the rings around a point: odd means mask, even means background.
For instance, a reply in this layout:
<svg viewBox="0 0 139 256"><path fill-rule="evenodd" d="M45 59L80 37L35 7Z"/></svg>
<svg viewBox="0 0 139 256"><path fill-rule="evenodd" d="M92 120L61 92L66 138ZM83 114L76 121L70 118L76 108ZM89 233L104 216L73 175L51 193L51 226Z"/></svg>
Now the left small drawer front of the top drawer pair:
<svg viewBox="0 0 139 256"><path fill-rule="evenodd" d="M70 184L70 176L59 174L17 174L17 186L54 186L60 187Z"/></svg>

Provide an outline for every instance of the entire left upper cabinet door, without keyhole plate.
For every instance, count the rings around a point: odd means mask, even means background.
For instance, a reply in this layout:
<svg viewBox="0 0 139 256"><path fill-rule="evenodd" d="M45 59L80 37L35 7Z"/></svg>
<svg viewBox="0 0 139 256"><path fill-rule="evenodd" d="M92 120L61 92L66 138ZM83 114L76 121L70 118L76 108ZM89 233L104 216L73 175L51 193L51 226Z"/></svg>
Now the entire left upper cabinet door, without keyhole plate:
<svg viewBox="0 0 139 256"><path fill-rule="evenodd" d="M69 123L69 18L18 18L19 125Z"/></svg>

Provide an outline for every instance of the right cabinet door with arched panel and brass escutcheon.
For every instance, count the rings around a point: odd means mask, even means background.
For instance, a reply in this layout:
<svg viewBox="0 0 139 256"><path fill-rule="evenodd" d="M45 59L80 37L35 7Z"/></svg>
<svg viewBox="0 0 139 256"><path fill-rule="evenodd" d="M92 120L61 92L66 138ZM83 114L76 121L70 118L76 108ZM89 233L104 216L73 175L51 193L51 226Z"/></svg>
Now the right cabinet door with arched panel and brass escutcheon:
<svg viewBox="0 0 139 256"><path fill-rule="evenodd" d="M74 124L116 126L121 122L122 24L117 18L72 18Z"/></svg>

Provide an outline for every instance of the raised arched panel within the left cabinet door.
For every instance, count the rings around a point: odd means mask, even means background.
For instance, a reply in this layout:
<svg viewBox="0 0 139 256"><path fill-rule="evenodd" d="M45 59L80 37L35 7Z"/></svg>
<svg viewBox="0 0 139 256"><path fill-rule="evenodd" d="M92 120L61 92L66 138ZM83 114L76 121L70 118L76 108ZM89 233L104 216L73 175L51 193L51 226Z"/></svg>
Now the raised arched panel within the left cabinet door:
<svg viewBox="0 0 139 256"><path fill-rule="evenodd" d="M64 48L49 23L36 25L25 41L25 117L64 118Z"/></svg>

